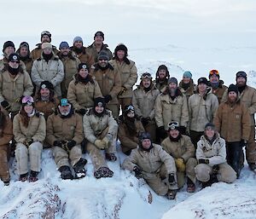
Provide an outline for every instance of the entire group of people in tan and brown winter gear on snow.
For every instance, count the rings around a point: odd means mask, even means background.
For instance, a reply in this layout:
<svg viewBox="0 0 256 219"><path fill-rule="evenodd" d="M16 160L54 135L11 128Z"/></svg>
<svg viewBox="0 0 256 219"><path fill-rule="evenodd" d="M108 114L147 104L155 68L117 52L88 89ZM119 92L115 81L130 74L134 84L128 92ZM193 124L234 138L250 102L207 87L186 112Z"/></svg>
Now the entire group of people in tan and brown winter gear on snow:
<svg viewBox="0 0 256 219"><path fill-rule="evenodd" d="M38 181L41 153L52 147L62 179L86 175L83 153L90 155L96 179L112 177L116 142L127 155L122 168L143 178L155 193L174 199L187 184L195 192L213 182L234 182L244 164L256 169L254 113L256 91L246 72L229 87L212 70L197 84L191 72L177 78L160 65L155 80L137 67L119 43L114 52L103 32L84 47L41 33L41 43L3 44L0 61L0 177L9 185L9 155L15 154L19 179Z"/></svg>

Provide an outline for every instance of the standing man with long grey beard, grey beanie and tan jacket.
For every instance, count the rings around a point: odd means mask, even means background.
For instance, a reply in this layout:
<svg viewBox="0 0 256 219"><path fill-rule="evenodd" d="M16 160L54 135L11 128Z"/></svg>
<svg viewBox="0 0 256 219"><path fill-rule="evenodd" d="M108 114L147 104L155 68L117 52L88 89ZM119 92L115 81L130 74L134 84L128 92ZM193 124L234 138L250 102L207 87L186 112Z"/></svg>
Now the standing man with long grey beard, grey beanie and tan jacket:
<svg viewBox="0 0 256 219"><path fill-rule="evenodd" d="M169 78L168 86L156 98L154 110L154 119L161 140L166 138L170 121L177 121L181 134L186 133L189 122L188 103L186 96L177 88L176 78Z"/></svg>

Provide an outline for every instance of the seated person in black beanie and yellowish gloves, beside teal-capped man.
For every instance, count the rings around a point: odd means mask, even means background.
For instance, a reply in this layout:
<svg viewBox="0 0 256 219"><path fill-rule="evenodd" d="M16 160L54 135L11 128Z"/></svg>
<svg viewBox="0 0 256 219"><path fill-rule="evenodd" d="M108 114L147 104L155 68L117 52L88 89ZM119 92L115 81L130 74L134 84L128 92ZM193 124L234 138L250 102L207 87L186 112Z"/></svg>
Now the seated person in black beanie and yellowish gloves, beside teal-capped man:
<svg viewBox="0 0 256 219"><path fill-rule="evenodd" d="M84 115L83 124L86 150L92 160L94 176L96 179L112 177L113 171L108 168L105 158L109 161L117 160L115 153L118 124L106 109L103 97L95 99L94 107ZM105 158L102 151L105 151Z"/></svg>

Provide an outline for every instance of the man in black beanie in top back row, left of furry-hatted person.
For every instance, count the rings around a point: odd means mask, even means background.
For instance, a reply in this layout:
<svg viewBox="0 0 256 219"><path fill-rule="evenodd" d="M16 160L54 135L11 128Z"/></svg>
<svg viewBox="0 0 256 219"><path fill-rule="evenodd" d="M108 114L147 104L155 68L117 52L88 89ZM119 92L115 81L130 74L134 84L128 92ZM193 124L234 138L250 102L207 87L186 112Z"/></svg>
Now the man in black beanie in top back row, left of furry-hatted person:
<svg viewBox="0 0 256 219"><path fill-rule="evenodd" d="M108 44L104 44L104 33L103 32L96 32L94 35L94 42L85 49L86 53L92 56L94 63L98 61L98 55L103 50L108 56L108 60L113 58L112 52L108 49Z"/></svg>

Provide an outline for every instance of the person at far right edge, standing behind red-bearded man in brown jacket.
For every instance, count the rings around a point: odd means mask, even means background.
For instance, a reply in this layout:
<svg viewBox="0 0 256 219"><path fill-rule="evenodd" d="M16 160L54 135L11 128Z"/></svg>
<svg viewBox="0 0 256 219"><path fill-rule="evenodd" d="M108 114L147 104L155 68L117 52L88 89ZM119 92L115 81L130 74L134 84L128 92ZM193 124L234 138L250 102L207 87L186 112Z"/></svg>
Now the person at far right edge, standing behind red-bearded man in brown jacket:
<svg viewBox="0 0 256 219"><path fill-rule="evenodd" d="M256 170L256 143L255 143L255 118L256 112L256 90L247 85L247 73L240 71L236 73L236 86L238 87L238 99L243 103L251 117L251 129L249 139L246 146L246 158L250 170ZM228 90L224 92L222 102L227 100ZM243 164L243 153L242 162Z"/></svg>

